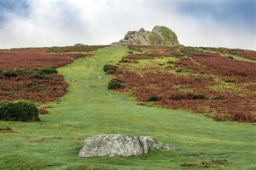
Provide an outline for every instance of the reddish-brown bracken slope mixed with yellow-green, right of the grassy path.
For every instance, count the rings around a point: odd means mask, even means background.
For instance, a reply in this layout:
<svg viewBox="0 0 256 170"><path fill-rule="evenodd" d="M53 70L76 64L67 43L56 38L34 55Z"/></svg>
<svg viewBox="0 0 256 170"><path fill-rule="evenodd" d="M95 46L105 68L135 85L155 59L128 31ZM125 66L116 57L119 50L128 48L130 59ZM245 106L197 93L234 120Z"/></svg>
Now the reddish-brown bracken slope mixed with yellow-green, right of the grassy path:
<svg viewBox="0 0 256 170"><path fill-rule="evenodd" d="M122 91L138 101L221 121L256 122L255 63L194 47L130 49L134 53L122 58L127 62L119 63L114 75L126 87Z"/></svg>

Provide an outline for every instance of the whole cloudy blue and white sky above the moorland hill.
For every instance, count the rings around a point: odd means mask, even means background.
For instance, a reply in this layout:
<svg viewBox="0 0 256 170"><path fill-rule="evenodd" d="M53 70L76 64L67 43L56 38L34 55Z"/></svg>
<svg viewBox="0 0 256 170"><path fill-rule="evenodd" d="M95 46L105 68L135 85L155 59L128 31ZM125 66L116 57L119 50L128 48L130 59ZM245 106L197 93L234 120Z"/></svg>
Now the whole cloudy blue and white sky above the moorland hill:
<svg viewBox="0 0 256 170"><path fill-rule="evenodd" d="M256 1L0 0L0 48L108 45L169 27L185 46L256 50Z"/></svg>

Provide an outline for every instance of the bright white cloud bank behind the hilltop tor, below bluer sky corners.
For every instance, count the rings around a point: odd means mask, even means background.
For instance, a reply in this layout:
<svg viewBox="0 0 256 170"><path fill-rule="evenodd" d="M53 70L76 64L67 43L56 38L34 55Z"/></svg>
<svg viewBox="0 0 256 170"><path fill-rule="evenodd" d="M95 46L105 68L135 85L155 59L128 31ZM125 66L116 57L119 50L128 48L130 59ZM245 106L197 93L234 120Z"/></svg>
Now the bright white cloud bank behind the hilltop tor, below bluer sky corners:
<svg viewBox="0 0 256 170"><path fill-rule="evenodd" d="M111 44L127 31L170 27L186 46L256 49L255 34L146 1L30 1L28 16L6 13L0 48Z"/></svg>

